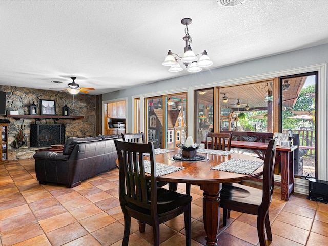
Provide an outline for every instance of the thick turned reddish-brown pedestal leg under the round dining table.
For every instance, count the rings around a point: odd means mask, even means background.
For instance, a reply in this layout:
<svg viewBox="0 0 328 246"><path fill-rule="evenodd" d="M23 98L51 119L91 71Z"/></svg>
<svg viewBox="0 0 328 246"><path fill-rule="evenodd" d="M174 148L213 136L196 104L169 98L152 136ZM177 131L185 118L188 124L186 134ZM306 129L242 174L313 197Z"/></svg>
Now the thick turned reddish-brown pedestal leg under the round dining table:
<svg viewBox="0 0 328 246"><path fill-rule="evenodd" d="M220 184L204 184L200 186L203 195L203 219L206 233L206 245L217 246L217 232L220 222Z"/></svg>

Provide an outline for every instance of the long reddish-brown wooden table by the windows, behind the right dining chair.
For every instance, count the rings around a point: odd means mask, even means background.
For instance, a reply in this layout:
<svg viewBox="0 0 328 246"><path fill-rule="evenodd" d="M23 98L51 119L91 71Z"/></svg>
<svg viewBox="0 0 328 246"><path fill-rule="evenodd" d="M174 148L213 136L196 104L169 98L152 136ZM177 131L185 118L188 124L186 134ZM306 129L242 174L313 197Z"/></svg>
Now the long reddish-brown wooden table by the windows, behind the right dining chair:
<svg viewBox="0 0 328 246"><path fill-rule="evenodd" d="M264 160L268 142L231 141L231 148L252 150ZM276 148L279 153L276 163L281 162L281 199L285 201L288 201L290 195L294 193L294 151L297 148L297 145Z"/></svg>

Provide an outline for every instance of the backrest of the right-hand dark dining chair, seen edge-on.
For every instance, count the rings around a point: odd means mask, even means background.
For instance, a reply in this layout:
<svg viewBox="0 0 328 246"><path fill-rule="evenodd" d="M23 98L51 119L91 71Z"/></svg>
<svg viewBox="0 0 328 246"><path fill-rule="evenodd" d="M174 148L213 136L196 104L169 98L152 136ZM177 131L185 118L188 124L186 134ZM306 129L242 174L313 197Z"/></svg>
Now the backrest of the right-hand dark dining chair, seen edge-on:
<svg viewBox="0 0 328 246"><path fill-rule="evenodd" d="M274 187L274 167L276 160L276 144L277 140L272 139L269 141L268 148L265 151L264 157L264 168L263 168L263 196L262 196L262 204L264 210L269 209L273 187Z"/></svg>

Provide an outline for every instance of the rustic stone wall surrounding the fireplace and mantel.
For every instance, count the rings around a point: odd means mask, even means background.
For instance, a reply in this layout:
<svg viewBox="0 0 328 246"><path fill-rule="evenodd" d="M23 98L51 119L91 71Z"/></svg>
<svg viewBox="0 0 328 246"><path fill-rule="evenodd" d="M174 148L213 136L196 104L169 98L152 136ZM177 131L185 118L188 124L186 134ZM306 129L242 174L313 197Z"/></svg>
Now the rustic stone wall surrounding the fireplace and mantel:
<svg viewBox="0 0 328 246"><path fill-rule="evenodd" d="M31 158L35 153L35 148L14 149L12 142L17 138L19 131L25 136L24 141L30 146L30 124L65 124L65 138L69 137L89 137L95 136L96 103L94 95L79 93L73 95L66 92L38 90L25 87L2 86L0 91L6 92L6 110L18 111L20 115L30 114L30 105L38 106L40 115L40 99L55 100L56 115L63 115L65 104L70 108L70 116L84 116L84 119L38 119L36 118L7 118L0 116L0 119L9 119L9 160ZM20 157L19 157L20 156Z"/></svg>

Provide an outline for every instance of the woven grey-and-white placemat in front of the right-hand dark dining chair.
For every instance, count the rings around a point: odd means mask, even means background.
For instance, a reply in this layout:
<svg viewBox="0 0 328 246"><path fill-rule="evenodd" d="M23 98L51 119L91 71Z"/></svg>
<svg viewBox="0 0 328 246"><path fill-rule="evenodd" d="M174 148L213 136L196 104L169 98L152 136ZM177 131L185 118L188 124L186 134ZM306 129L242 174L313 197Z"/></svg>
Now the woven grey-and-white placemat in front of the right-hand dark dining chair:
<svg viewBox="0 0 328 246"><path fill-rule="evenodd" d="M260 161L230 159L215 167L211 167L211 169L251 175L262 165L263 162Z"/></svg>

